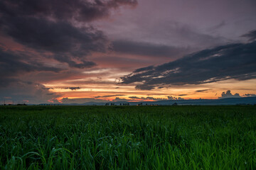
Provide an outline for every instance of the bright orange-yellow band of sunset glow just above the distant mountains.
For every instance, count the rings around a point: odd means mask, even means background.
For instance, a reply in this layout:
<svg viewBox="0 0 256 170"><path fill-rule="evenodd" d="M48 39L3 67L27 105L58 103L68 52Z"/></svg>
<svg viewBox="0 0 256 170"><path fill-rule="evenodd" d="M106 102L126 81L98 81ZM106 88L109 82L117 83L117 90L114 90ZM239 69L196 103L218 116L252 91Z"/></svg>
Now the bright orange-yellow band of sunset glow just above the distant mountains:
<svg viewBox="0 0 256 170"><path fill-rule="evenodd" d="M168 96L174 98L183 99L218 99L223 91L230 90L232 94L238 93L240 96L245 94L254 94L256 88L252 86L256 84L256 79L247 81L225 80L210 84L199 84L174 86L174 88L167 87L163 89L153 90L137 90L132 85L116 84L112 81L112 84L105 86L104 84L65 84L61 82L53 82L52 84L44 84L44 86L53 88L49 89L56 94L60 94L58 98L55 98L59 102L62 102L63 98L79 99L79 98L95 98L102 101L114 101L116 98L126 99L129 101L156 101L152 99L146 99L147 97L158 98L159 100L168 100ZM71 90L63 89L67 86L80 86L80 89ZM203 92L196 92L200 90L206 90ZM116 95L116 96L113 96ZM110 96L110 97L104 97ZM129 98L136 96L137 98Z"/></svg>

